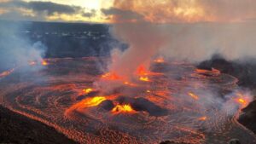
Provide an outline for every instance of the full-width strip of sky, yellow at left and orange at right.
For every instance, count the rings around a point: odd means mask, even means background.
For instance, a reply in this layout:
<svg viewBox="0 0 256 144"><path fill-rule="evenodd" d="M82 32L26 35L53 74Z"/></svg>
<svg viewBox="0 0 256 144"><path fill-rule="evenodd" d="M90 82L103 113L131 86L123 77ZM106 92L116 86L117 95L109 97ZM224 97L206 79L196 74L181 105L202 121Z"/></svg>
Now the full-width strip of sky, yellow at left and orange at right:
<svg viewBox="0 0 256 144"><path fill-rule="evenodd" d="M0 19L91 23L256 20L255 0L0 0Z"/></svg>

